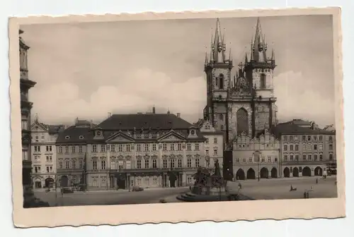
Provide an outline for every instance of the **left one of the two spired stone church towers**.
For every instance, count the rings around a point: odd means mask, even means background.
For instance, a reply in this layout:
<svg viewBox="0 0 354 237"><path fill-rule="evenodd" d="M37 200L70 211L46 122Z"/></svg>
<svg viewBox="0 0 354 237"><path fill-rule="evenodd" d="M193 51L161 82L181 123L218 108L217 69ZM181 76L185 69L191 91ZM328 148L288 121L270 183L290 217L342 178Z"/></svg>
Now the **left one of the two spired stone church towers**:
<svg viewBox="0 0 354 237"><path fill-rule="evenodd" d="M227 92L231 87L232 65L231 50L227 56L225 35L220 28L219 19L215 35L211 40L209 58L205 54L204 71L207 77L207 106L204 119L212 123L217 130L227 133Z"/></svg>

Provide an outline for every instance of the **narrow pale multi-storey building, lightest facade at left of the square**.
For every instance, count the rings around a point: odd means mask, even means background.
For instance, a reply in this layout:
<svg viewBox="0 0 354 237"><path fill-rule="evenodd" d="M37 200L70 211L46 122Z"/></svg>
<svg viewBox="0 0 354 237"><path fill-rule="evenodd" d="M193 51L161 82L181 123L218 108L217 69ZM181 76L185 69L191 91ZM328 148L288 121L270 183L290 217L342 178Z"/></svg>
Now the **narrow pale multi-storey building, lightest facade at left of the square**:
<svg viewBox="0 0 354 237"><path fill-rule="evenodd" d="M36 116L31 126L31 160L33 188L55 188L57 174L57 150L55 142L62 125L47 125L40 123Z"/></svg>

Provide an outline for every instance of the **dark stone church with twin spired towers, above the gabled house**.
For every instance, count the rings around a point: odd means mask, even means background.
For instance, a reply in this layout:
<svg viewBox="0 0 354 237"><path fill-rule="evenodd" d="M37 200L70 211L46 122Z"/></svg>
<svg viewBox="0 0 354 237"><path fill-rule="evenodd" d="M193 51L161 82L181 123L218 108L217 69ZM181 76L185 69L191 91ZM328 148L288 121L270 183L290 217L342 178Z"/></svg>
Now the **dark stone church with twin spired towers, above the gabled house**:
<svg viewBox="0 0 354 237"><path fill-rule="evenodd" d="M250 60L246 53L244 63L239 63L239 71L232 77L231 49L227 57L224 35L217 20L210 56L205 56L207 105L204 117L217 130L224 132L226 143L241 133L253 138L264 128L271 128L277 123L278 109L273 91L275 54L272 51L268 57L267 51L268 45L258 18Z"/></svg>

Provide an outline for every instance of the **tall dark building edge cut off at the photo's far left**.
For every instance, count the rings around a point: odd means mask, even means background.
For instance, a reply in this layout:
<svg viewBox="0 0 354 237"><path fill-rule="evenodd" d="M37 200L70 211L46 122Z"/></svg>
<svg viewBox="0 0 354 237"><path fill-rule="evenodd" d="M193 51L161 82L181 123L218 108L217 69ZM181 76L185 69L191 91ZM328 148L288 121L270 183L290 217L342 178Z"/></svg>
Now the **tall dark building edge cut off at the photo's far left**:
<svg viewBox="0 0 354 237"><path fill-rule="evenodd" d="M19 31L19 35L23 33ZM32 187L32 162L31 162L31 134L30 134L30 111L33 103L28 98L30 88L35 86L35 82L28 78L28 45L23 38L19 37L20 43L20 91L21 91L21 128L22 128L22 183L24 195L28 188Z"/></svg>

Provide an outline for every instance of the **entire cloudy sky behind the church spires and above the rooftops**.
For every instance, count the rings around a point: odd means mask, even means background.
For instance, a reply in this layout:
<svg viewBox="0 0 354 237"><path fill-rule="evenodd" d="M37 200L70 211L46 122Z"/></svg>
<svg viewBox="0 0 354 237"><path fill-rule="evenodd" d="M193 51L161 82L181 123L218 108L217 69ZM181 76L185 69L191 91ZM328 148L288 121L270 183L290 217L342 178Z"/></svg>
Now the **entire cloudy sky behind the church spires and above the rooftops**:
<svg viewBox="0 0 354 237"><path fill-rule="evenodd" d="M22 25L31 47L33 114L45 123L111 113L181 113L194 122L206 103L205 51L216 19ZM256 18L221 18L235 64L244 61ZM331 16L261 18L275 49L278 118L334 123ZM229 49L227 49L229 50ZM233 75L236 68L233 70Z"/></svg>

